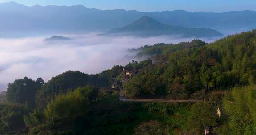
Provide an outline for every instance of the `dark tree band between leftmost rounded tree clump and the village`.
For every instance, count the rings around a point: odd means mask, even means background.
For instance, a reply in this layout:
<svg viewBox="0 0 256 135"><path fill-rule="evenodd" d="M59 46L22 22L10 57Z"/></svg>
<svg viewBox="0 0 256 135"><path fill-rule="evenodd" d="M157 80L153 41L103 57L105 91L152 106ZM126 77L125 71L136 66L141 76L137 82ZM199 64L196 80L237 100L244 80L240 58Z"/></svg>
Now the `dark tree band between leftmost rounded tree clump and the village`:
<svg viewBox="0 0 256 135"><path fill-rule="evenodd" d="M67 71L56 77L53 77L38 91L36 103L38 107L43 108L56 95L73 91L78 87L86 85L95 87L110 87L112 78L116 77L122 71L121 66L114 66L111 70L106 70L96 75L88 75L80 71Z"/></svg>

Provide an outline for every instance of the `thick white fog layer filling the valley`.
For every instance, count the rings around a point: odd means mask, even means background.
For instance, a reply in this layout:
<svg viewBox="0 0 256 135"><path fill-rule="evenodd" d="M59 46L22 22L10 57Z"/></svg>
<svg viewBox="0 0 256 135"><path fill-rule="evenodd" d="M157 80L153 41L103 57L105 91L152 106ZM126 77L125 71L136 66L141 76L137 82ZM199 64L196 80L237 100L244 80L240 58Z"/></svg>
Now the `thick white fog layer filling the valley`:
<svg viewBox="0 0 256 135"><path fill-rule="evenodd" d="M79 70L95 74L134 59L128 48L146 44L191 41L174 37L107 37L96 34L61 35L72 40L45 42L50 36L0 39L0 91L7 83L27 76L48 81L64 71ZM59 36L58 35L58 36ZM202 39L212 42L215 39ZM127 56L128 55L128 56Z"/></svg>

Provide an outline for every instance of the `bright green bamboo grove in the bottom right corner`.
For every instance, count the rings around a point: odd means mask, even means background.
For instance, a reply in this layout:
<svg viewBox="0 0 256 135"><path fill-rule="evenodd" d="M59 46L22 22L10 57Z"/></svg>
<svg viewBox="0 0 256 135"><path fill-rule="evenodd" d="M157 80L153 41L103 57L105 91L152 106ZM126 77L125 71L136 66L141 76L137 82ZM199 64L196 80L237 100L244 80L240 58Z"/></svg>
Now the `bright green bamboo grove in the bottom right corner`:
<svg viewBox="0 0 256 135"><path fill-rule="evenodd" d="M216 132L221 135L256 133L256 86L235 87L223 101L225 119Z"/></svg>

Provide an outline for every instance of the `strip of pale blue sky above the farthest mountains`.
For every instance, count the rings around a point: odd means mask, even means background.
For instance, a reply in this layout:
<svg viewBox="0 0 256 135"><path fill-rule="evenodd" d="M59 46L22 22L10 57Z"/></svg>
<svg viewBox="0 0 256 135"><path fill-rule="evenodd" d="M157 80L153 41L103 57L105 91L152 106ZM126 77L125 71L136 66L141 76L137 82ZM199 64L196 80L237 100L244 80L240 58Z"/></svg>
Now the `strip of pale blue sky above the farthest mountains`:
<svg viewBox="0 0 256 135"><path fill-rule="evenodd" d="M190 12L226 12L256 10L256 0L0 0L24 5L77 5L98 9L138 11L186 10Z"/></svg>

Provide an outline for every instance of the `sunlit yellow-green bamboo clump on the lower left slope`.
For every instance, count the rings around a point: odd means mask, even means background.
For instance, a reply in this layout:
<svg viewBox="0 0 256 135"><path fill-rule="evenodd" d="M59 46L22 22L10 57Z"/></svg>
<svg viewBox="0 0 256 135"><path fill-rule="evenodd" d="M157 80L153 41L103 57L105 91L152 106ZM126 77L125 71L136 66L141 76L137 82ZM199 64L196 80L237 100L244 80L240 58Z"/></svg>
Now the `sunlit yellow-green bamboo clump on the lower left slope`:
<svg viewBox="0 0 256 135"><path fill-rule="evenodd" d="M86 112L86 107L96 97L92 94L92 87L79 87L75 91L67 94L58 95L51 103L48 103L45 109L45 115L48 121L54 119L73 118Z"/></svg>

